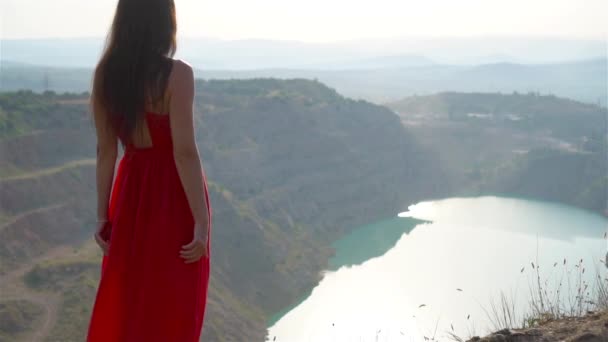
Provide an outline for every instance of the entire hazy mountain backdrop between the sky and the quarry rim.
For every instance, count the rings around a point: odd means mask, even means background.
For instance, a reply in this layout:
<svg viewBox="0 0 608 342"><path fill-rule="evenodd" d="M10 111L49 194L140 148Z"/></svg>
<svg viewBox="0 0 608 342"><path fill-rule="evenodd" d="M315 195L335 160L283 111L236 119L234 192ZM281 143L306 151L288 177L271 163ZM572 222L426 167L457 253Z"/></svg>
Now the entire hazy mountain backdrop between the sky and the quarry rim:
<svg viewBox="0 0 608 342"><path fill-rule="evenodd" d="M2 40L0 91L83 92L101 38ZM557 38L400 38L336 43L182 38L204 79L317 79L375 103L455 92L537 92L606 106L608 46Z"/></svg>

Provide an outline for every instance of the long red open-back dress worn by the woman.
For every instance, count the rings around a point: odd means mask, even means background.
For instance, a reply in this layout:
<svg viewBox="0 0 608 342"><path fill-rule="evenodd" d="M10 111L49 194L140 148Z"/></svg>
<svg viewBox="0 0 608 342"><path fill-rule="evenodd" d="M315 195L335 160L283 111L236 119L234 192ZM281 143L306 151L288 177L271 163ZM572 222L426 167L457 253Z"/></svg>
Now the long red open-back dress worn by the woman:
<svg viewBox="0 0 608 342"><path fill-rule="evenodd" d="M118 165L88 342L195 342L201 334L209 258L186 264L179 254L192 241L194 217L173 158L169 115L145 116L153 146L127 145ZM203 180L211 221L204 171ZM209 242L207 248L211 255Z"/></svg>

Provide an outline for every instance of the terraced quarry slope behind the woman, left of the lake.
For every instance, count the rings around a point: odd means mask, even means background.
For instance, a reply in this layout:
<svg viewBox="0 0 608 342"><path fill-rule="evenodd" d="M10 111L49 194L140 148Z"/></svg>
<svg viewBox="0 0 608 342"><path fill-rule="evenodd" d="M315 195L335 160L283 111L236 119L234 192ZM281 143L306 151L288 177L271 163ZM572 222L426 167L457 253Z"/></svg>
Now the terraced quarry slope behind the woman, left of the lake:
<svg viewBox="0 0 608 342"><path fill-rule="evenodd" d="M399 118L305 80L198 81L215 248L203 339L262 340L356 225L447 193ZM81 341L99 280L86 94L0 95L0 341Z"/></svg>

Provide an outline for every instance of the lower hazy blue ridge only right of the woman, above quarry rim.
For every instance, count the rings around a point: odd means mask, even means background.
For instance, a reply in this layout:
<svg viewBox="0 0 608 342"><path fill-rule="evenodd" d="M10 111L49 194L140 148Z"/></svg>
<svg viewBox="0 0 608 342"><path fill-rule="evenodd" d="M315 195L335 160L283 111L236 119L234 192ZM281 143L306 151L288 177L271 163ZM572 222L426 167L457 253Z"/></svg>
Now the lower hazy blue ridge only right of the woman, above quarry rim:
<svg viewBox="0 0 608 342"><path fill-rule="evenodd" d="M438 92L537 92L606 106L607 60L595 58L552 64L427 64L350 70L264 69L199 70L206 79L318 79L349 97L376 103Z"/></svg>

